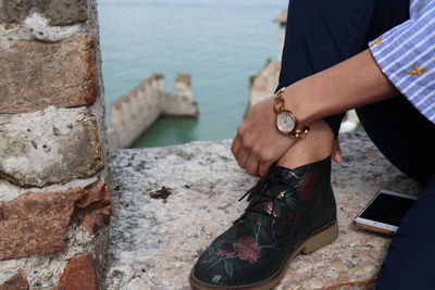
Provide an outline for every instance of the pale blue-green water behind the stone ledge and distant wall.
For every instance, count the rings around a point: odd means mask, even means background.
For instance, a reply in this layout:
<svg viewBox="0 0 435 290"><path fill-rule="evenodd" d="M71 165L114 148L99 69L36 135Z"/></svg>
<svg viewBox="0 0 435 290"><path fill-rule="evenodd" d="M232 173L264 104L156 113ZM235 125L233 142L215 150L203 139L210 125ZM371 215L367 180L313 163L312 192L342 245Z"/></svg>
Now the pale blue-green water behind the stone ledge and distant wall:
<svg viewBox="0 0 435 290"><path fill-rule="evenodd" d="M199 119L161 118L134 147L233 138L247 108L249 76L277 59L278 25L272 18L287 3L99 0L108 109L152 73L165 75L169 91L177 73L192 76Z"/></svg>

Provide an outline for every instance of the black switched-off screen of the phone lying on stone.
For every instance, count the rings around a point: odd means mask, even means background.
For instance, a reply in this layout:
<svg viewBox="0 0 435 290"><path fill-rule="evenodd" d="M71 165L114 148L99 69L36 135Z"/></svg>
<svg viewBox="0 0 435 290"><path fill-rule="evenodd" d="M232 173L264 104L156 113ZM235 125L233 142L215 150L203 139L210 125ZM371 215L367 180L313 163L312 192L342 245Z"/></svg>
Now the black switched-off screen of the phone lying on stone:
<svg viewBox="0 0 435 290"><path fill-rule="evenodd" d="M411 199L381 192L360 217L398 227L413 202Z"/></svg>

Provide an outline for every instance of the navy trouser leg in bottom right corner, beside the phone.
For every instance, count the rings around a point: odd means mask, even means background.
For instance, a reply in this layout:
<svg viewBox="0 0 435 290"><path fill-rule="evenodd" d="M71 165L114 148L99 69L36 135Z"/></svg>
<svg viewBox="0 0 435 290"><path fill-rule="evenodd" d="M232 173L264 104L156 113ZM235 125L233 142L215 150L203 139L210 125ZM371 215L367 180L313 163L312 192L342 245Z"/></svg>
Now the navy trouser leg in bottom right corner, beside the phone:
<svg viewBox="0 0 435 290"><path fill-rule="evenodd" d="M435 289L435 175L402 219L377 277L376 290Z"/></svg>

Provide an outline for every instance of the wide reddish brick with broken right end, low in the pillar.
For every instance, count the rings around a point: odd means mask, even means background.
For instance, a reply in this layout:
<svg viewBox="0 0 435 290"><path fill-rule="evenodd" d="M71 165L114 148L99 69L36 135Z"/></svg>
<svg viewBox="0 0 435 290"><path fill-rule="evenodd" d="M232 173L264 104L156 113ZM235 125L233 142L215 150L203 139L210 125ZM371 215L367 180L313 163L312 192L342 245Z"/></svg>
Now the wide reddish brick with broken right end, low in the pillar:
<svg viewBox="0 0 435 290"><path fill-rule="evenodd" d="M102 181L0 202L0 261L59 252L72 223L95 231L109 222L110 213L110 193Z"/></svg>

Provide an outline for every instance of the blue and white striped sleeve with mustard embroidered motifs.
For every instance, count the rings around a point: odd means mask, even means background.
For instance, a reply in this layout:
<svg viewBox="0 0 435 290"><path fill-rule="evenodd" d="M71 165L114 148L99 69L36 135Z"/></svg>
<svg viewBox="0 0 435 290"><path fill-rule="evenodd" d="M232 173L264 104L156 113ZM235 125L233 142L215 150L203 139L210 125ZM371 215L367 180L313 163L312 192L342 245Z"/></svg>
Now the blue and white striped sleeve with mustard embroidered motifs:
<svg viewBox="0 0 435 290"><path fill-rule="evenodd" d="M435 124L435 0L411 2L411 18L369 47L393 85Z"/></svg>

